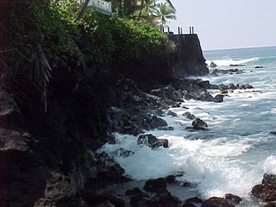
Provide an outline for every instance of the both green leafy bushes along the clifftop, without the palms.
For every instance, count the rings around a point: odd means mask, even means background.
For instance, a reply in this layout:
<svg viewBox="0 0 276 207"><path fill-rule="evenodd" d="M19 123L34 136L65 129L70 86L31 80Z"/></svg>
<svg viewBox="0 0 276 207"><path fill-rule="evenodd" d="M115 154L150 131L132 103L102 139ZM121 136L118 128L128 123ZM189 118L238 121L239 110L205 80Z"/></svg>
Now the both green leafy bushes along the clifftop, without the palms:
<svg viewBox="0 0 276 207"><path fill-rule="evenodd" d="M25 30L23 45L28 45L25 54L30 54L33 43L38 43L52 62L77 59L74 41L87 65L105 67L123 65L149 52L162 53L172 46L158 27L117 15L104 16L93 9L87 9L83 18L74 22L79 9L74 0L57 4L50 1L49 5L33 1L26 15L28 26L21 28ZM16 23L20 27L21 20Z"/></svg>

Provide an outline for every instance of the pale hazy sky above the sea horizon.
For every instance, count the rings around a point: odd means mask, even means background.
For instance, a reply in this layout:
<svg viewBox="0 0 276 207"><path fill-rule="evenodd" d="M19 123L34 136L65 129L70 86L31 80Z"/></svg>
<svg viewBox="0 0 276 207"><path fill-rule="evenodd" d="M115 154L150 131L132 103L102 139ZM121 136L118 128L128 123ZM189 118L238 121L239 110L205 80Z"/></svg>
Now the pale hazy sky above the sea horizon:
<svg viewBox="0 0 276 207"><path fill-rule="evenodd" d="M276 45L276 0L171 0L177 21L194 26L204 50Z"/></svg>

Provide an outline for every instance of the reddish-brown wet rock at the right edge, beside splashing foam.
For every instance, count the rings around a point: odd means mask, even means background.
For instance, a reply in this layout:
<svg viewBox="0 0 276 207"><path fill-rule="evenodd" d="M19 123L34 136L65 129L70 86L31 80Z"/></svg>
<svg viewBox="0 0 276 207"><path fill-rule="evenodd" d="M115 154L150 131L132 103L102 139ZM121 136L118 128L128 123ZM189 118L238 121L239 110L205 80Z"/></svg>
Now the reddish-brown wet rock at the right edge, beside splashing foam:
<svg viewBox="0 0 276 207"><path fill-rule="evenodd" d="M276 201L276 175L264 174L262 184L253 187L251 193L263 201Z"/></svg>

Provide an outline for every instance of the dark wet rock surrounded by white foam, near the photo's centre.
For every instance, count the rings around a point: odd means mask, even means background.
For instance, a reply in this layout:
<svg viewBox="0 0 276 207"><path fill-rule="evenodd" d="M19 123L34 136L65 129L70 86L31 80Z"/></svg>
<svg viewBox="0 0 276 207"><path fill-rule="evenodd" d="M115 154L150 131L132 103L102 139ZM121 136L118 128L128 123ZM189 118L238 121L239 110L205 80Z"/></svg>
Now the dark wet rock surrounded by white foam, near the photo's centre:
<svg viewBox="0 0 276 207"><path fill-rule="evenodd" d="M137 140L138 145L146 145L148 147L169 147L169 141L167 139L158 139L154 135L140 135Z"/></svg>

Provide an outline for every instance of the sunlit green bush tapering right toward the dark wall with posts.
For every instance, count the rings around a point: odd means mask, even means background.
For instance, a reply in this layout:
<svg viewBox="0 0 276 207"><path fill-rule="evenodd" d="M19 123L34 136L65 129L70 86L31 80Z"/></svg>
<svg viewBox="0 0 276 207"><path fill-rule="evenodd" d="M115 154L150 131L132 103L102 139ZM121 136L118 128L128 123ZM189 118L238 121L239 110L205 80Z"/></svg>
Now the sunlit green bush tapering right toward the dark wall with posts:
<svg viewBox="0 0 276 207"><path fill-rule="evenodd" d="M148 23L118 16L102 16L88 11L80 22L84 53L92 61L122 63L147 52L162 52L170 47L167 36Z"/></svg>

